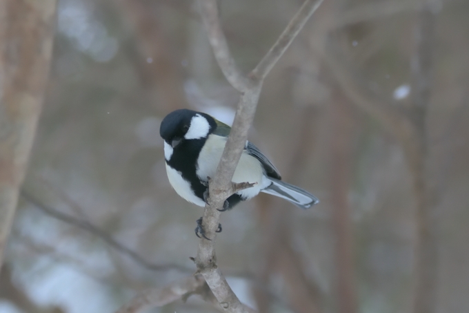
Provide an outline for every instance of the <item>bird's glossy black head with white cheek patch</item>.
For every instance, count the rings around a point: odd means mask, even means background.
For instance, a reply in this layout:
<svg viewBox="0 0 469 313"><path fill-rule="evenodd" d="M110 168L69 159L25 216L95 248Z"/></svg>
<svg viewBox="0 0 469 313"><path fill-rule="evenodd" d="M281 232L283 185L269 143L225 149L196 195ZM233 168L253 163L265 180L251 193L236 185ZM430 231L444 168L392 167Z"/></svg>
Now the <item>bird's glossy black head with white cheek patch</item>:
<svg viewBox="0 0 469 313"><path fill-rule="evenodd" d="M216 127L210 115L182 108L166 115L159 135L174 148L182 140L206 138Z"/></svg>

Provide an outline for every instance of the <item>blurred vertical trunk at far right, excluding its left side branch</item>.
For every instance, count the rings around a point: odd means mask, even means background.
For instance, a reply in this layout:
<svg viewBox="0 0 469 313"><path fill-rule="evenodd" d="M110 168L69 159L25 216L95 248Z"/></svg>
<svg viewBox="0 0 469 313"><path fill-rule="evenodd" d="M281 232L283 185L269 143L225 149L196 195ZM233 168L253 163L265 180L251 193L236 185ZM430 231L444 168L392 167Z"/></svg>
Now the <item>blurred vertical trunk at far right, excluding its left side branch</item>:
<svg viewBox="0 0 469 313"><path fill-rule="evenodd" d="M436 312L437 299L437 229L432 210L435 208L436 184L432 184L427 114L432 89L432 56L435 43L435 14L427 1L417 16L417 49L412 57L412 109L415 142L408 147L415 198L414 313ZM431 190L430 190L431 189Z"/></svg>

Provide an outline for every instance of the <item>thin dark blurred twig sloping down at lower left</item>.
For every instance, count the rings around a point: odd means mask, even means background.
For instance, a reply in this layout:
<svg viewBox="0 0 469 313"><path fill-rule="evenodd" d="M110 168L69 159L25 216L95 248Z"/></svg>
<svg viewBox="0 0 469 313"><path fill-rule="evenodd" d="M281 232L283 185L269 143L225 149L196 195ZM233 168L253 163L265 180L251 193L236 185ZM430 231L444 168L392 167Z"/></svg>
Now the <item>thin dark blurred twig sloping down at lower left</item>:
<svg viewBox="0 0 469 313"><path fill-rule="evenodd" d="M107 243L108 245L116 249L117 251L121 252L122 254L129 256L130 258L132 258L132 260L139 263L141 266L145 267L146 269L151 269L154 271L168 271L169 269L175 269L180 272L185 272L185 273L190 272L190 269L188 269L187 267L183 267L181 265L150 263L148 262L148 260L145 260L139 254L137 254L137 252L134 252L132 249L122 245L117 240L114 240L109 234L106 233L106 231L99 229L99 227L92 225L90 222L86 220L81 220L79 218L75 218L74 216L70 216L48 205L45 205L40 200L38 200L37 198L32 196L30 193L28 193L27 191L21 190L21 197L27 200L28 202L30 202L32 205L34 205L34 207L37 207L37 209L40 209L44 213L48 214L48 216L52 216L53 218L56 218L57 220L61 220L62 222L66 222L70 225L74 225L75 227L78 227L80 229L90 232L94 236L98 236L105 243Z"/></svg>

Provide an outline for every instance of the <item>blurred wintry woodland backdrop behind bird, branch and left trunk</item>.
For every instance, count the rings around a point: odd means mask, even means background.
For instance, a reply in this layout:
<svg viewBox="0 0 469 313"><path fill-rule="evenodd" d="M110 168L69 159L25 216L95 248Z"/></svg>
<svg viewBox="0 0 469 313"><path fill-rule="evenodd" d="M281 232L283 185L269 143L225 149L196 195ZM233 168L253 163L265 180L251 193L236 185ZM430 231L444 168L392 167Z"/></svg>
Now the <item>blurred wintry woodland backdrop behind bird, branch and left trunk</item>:
<svg viewBox="0 0 469 313"><path fill-rule="evenodd" d="M219 266L259 312L469 312L469 2L422 3L326 0L266 79L250 140L321 202L222 214ZM248 73L301 1L219 5ZM230 124L238 99L194 1L59 0L0 312L114 312L192 274L203 209L170 187L159 124Z"/></svg>

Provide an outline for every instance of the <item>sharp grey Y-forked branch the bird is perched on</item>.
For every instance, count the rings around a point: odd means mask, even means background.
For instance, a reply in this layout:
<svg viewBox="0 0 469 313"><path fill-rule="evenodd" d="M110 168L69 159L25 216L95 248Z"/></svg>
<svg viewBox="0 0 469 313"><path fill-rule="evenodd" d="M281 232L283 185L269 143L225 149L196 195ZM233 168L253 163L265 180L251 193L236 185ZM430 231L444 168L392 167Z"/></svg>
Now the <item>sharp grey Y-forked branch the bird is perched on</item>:
<svg viewBox="0 0 469 313"><path fill-rule="evenodd" d="M315 12L321 2L322 0L317 2L311 0L305 1L297 15L288 24L286 30L269 50L266 57L259 62L259 65L256 66L255 70L247 78L239 73L234 60L230 56L228 45L219 23L217 1L199 0L201 16L206 25L210 44L219 62L219 66L228 82L238 91L242 92L230 137L228 137L225 150L223 155L221 155L217 173L209 184L210 197L208 198L208 205L206 205L206 209L203 212L203 227L207 236L212 238L212 240L201 238L199 249L197 250L197 258L194 259L197 265L197 273L202 274L203 278L206 279L214 296L226 312L249 312L250 309L239 301L217 265L217 256L214 252L215 231L218 228L220 218L220 212L217 209L221 209L223 202L234 193L231 179L248 138L248 131L254 119L263 79L277 63L281 55L285 53L286 48L290 46L293 39L298 35L299 30L303 28L308 18Z"/></svg>

